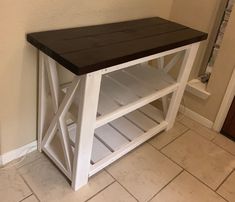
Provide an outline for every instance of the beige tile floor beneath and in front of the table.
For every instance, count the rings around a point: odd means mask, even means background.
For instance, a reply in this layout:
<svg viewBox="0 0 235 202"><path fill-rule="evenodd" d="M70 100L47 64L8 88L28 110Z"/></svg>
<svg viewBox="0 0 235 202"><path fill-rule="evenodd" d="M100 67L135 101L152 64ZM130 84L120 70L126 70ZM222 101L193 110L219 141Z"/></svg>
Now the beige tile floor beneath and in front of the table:
<svg viewBox="0 0 235 202"><path fill-rule="evenodd" d="M235 143L186 117L77 192L43 154L12 164L1 202L235 202Z"/></svg>

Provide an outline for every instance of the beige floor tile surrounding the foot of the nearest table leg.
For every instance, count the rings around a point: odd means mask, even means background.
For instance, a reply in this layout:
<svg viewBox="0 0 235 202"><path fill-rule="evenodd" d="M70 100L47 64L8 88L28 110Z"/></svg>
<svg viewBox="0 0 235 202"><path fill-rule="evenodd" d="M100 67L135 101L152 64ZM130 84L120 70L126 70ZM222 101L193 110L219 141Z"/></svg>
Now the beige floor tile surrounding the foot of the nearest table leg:
<svg viewBox="0 0 235 202"><path fill-rule="evenodd" d="M100 172L86 186L74 192L66 178L46 158L23 166L19 172L43 202L82 202L114 181L108 173Z"/></svg>

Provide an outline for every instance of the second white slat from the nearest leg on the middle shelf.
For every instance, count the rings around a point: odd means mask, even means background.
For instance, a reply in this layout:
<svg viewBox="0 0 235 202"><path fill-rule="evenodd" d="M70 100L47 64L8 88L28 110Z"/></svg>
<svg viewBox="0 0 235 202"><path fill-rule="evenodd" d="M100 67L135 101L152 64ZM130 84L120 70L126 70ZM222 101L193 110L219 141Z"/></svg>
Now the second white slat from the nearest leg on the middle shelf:
<svg viewBox="0 0 235 202"><path fill-rule="evenodd" d="M131 91L128 91L127 89L113 82L113 80L107 76L102 77L101 89L106 95L111 96L120 105L126 105L139 99L139 97L134 95Z"/></svg>

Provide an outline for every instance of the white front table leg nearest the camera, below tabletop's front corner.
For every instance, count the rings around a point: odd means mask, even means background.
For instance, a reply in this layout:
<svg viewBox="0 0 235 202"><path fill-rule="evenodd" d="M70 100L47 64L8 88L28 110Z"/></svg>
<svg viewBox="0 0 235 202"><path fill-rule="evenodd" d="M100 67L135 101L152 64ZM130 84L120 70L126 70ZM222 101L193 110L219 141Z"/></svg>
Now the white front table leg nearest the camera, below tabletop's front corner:
<svg viewBox="0 0 235 202"><path fill-rule="evenodd" d="M81 79L72 172L74 190L78 190L88 182L100 83L100 71L86 74Z"/></svg>

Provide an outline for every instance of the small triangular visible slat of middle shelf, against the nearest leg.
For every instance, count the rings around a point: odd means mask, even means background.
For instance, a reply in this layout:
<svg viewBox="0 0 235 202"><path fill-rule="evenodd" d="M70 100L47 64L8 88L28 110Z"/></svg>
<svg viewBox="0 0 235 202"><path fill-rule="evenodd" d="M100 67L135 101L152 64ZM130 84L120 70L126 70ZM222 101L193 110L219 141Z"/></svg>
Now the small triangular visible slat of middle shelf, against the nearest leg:
<svg viewBox="0 0 235 202"><path fill-rule="evenodd" d="M105 95L102 91L100 92L98 105L99 115L108 114L118 109L119 107L120 105L118 105L114 100L112 100L110 96Z"/></svg>

